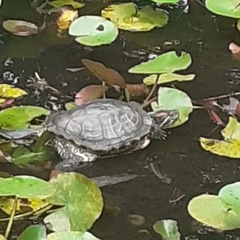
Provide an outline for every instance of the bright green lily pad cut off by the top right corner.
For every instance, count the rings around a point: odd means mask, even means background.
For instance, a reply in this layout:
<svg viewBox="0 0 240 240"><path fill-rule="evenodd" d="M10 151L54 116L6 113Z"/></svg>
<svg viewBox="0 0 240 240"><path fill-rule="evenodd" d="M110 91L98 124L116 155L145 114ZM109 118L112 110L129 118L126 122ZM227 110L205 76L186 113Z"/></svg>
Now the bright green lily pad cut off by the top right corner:
<svg viewBox="0 0 240 240"><path fill-rule="evenodd" d="M239 0L206 0L205 5L213 13L226 17L240 18Z"/></svg>

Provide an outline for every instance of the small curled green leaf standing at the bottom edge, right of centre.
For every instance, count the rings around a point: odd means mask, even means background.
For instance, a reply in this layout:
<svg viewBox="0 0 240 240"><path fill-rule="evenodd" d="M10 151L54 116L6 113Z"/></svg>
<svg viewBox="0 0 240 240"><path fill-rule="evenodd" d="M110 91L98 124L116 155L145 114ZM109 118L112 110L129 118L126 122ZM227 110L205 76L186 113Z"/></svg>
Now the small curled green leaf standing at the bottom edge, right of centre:
<svg viewBox="0 0 240 240"><path fill-rule="evenodd" d="M153 229L160 234L164 240L180 240L181 235L178 231L177 221L164 219L153 224Z"/></svg>

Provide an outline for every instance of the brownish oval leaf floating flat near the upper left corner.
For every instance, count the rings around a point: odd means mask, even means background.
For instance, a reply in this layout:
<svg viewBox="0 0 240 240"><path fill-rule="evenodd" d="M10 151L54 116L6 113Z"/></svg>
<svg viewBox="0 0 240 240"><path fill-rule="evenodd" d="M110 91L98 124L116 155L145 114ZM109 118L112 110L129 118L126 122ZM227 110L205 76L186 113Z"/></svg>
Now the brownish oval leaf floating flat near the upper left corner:
<svg viewBox="0 0 240 240"><path fill-rule="evenodd" d="M22 20L6 20L3 22L3 28L14 35L26 37L39 33L39 28L34 23Z"/></svg>

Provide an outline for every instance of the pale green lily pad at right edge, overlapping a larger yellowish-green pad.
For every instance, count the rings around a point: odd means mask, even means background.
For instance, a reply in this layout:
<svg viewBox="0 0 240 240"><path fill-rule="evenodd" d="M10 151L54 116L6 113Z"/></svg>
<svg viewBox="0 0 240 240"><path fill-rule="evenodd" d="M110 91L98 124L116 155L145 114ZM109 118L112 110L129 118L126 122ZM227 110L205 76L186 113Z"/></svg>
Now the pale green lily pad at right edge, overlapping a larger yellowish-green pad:
<svg viewBox="0 0 240 240"><path fill-rule="evenodd" d="M239 215L240 218L240 182L235 182L222 187L218 196L224 200L229 208Z"/></svg>

